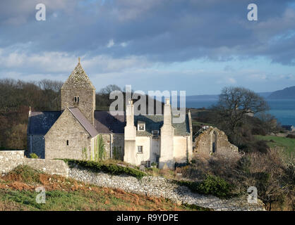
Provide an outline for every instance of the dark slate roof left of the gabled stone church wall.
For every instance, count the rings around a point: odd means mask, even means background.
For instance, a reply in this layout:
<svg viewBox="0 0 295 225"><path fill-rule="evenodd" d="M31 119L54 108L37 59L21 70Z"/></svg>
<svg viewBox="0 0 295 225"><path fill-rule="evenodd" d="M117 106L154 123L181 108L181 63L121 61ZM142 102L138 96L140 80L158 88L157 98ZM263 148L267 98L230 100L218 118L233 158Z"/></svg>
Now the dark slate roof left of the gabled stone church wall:
<svg viewBox="0 0 295 225"><path fill-rule="evenodd" d="M28 134L47 134L63 111L32 112L28 122Z"/></svg>

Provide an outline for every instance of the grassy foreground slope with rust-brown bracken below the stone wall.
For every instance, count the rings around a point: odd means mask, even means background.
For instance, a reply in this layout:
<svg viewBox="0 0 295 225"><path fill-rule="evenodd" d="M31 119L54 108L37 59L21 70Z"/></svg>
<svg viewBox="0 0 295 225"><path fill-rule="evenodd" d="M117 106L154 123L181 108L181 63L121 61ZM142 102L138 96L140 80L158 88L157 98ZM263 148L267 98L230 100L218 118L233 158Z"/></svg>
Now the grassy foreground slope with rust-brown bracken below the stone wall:
<svg viewBox="0 0 295 225"><path fill-rule="evenodd" d="M44 186L46 203L37 204L35 188ZM21 166L0 179L0 210L191 210L164 198L100 188Z"/></svg>

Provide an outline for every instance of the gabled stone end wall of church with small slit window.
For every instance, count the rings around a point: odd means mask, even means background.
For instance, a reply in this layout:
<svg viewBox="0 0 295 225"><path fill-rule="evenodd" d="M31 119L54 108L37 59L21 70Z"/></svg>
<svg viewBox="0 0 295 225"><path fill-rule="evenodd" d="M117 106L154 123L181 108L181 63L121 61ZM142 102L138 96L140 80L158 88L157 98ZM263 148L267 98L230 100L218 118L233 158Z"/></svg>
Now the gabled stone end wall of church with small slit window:
<svg viewBox="0 0 295 225"><path fill-rule="evenodd" d="M87 149L88 156L90 155L90 135L68 109L64 110L64 113L61 114L59 120L49 129L44 138L46 159L71 158L83 160L84 148Z"/></svg>

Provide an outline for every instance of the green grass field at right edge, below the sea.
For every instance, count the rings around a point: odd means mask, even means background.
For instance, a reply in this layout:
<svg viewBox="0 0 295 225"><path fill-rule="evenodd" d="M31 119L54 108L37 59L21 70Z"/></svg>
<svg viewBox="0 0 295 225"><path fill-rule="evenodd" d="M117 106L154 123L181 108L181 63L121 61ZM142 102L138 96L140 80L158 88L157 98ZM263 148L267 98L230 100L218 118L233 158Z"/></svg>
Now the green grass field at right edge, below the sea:
<svg viewBox="0 0 295 225"><path fill-rule="evenodd" d="M284 148L286 153L291 154L295 153L295 139L289 139L282 136L261 136L256 135L256 138L259 140L267 141L267 145L272 147L278 146Z"/></svg>

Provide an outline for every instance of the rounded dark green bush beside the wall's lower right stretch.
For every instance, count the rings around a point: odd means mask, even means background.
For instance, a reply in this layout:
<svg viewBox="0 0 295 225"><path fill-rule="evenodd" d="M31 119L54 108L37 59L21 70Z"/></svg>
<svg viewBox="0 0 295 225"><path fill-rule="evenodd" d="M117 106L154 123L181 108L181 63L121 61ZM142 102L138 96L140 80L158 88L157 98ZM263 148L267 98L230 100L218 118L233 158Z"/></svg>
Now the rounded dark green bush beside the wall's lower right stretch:
<svg viewBox="0 0 295 225"><path fill-rule="evenodd" d="M219 198L231 197L231 186L218 176L207 175L201 182L176 181L176 184L187 186L195 193L215 195Z"/></svg>

